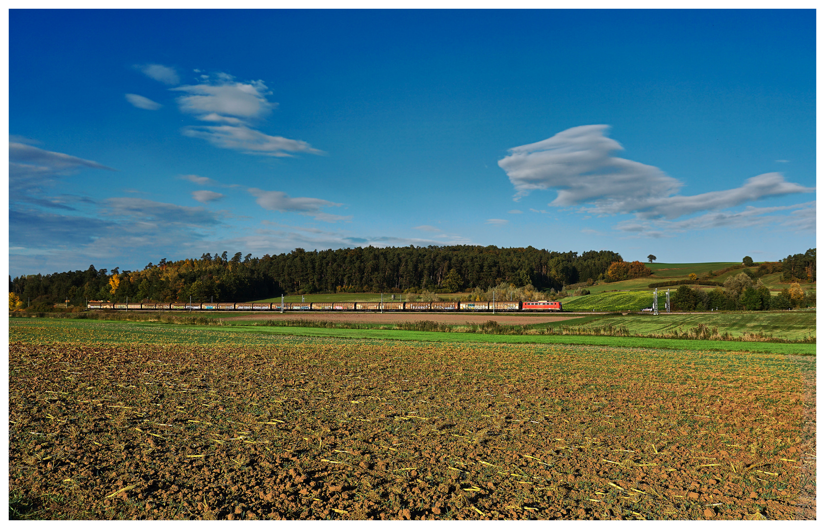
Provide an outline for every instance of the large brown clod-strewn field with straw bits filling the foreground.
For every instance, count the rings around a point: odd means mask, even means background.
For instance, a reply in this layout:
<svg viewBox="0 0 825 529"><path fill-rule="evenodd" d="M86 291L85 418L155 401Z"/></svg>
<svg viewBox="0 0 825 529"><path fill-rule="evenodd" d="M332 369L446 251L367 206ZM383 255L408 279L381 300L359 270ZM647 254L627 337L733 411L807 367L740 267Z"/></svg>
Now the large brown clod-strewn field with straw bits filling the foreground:
<svg viewBox="0 0 825 529"><path fill-rule="evenodd" d="M815 519L815 358L11 344L14 517Z"/></svg>

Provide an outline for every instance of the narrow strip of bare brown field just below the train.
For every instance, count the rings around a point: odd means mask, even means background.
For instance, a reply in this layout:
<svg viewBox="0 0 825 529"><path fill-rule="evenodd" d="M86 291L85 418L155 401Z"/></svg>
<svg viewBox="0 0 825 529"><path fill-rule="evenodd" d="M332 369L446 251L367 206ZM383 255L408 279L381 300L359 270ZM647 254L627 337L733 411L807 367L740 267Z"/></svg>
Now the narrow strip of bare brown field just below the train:
<svg viewBox="0 0 825 529"><path fill-rule="evenodd" d="M535 325L537 323L551 323L554 321L575 320L582 316L546 316L518 315L508 312L485 312L473 314L463 312L450 314L441 312L265 312L263 314L247 314L244 316L229 316L221 318L224 321L261 321L261 320L307 320L307 321L341 321L347 323L398 323L399 321L429 320L438 323L461 325L466 322L483 323L495 320L501 325Z"/></svg>

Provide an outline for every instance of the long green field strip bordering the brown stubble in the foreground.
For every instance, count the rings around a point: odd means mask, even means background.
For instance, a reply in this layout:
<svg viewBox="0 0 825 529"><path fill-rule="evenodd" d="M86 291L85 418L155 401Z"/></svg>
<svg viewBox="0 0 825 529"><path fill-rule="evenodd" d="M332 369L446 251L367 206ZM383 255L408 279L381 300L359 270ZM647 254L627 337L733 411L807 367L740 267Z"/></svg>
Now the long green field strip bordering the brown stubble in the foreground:
<svg viewBox="0 0 825 529"><path fill-rule="evenodd" d="M815 354L815 344L771 344L712 340L621 338L574 335L482 335L420 332L414 330L350 330L302 327L165 325L136 322L14 318L9 320L9 341L73 344L272 344L287 336L320 336L345 339L389 339L447 343L579 344L610 347L681 349L691 351L750 351L759 353Z"/></svg>

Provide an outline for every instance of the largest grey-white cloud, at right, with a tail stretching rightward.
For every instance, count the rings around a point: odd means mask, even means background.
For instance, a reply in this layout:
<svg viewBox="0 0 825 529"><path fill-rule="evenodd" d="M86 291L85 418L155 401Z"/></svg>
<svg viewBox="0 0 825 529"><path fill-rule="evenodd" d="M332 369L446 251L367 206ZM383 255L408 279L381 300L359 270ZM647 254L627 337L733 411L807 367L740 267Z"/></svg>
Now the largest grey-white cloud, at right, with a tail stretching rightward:
<svg viewBox="0 0 825 529"><path fill-rule="evenodd" d="M731 208L792 193L811 193L780 173L749 178L741 187L692 196L677 195L682 183L658 167L610 156L621 145L605 136L608 125L584 125L521 147L498 162L516 189L515 199L532 190L557 190L552 206L583 206L589 213L634 213L637 218L677 218Z"/></svg>

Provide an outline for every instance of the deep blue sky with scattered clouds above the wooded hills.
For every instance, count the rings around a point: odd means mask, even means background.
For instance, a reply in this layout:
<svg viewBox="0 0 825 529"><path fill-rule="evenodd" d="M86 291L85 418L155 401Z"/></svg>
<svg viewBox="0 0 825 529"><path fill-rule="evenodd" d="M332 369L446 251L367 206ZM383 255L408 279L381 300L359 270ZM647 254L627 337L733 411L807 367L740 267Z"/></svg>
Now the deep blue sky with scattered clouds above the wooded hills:
<svg viewBox="0 0 825 529"><path fill-rule="evenodd" d="M815 16L25 11L12 276L476 244L776 260L815 243Z"/></svg>

